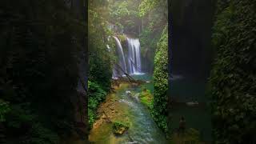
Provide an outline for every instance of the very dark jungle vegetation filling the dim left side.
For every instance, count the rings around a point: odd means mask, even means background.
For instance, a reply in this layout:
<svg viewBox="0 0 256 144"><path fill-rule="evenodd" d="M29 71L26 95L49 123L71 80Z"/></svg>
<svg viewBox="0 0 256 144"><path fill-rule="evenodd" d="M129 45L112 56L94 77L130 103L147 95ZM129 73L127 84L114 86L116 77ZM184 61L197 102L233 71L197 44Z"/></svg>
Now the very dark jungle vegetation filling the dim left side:
<svg viewBox="0 0 256 144"><path fill-rule="evenodd" d="M1 2L0 143L63 143L78 131L72 99L86 26L72 8L60 0Z"/></svg>

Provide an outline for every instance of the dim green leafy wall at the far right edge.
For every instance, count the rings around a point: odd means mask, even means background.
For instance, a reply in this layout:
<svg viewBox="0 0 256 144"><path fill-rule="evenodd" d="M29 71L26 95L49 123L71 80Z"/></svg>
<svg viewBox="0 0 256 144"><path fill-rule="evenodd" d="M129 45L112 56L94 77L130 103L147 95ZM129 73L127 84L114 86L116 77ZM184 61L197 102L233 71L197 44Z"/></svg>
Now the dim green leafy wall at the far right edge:
<svg viewBox="0 0 256 144"><path fill-rule="evenodd" d="M256 2L218 1L210 74L216 143L254 143L256 130Z"/></svg>

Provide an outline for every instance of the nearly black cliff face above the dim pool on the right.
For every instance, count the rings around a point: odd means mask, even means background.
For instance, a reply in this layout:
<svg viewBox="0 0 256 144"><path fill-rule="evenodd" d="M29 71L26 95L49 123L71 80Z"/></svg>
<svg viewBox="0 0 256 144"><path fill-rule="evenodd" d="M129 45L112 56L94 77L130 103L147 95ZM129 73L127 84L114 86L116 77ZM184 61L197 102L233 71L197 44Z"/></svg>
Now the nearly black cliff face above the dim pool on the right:
<svg viewBox="0 0 256 144"><path fill-rule="evenodd" d="M170 2L173 74L204 79L209 73L214 0Z"/></svg>

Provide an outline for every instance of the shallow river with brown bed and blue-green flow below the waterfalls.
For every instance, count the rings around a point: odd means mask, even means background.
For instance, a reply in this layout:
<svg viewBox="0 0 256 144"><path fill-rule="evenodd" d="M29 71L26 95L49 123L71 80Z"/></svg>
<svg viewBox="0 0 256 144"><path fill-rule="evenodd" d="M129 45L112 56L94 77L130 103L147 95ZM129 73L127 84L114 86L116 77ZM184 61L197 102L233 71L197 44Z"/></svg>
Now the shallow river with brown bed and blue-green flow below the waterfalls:
<svg viewBox="0 0 256 144"><path fill-rule="evenodd" d="M147 107L136 97L142 91L142 87L146 87L154 93L151 77L143 74L136 75L134 78L150 82L144 83L142 86L132 86L130 83L124 82L115 88L114 93L108 94L106 102L99 107L100 118L90 130L90 142L98 144L166 143L165 134L158 128ZM130 97L127 94L128 91L134 96ZM125 134L115 136L112 132L113 124L107 122L108 118L112 122L126 122L130 127Z"/></svg>

